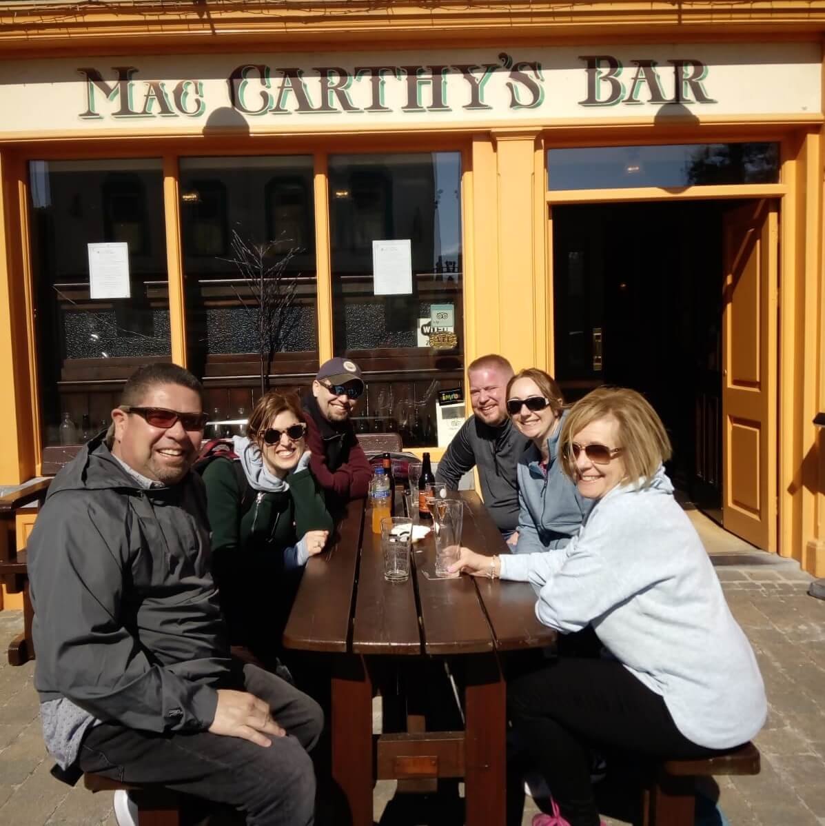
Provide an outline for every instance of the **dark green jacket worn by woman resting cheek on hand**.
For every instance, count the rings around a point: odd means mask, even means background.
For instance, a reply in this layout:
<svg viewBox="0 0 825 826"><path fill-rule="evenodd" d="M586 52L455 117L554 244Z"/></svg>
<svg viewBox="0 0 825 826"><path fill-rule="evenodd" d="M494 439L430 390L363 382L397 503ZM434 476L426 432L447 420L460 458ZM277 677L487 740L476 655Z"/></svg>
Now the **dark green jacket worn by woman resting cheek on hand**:
<svg viewBox="0 0 825 826"><path fill-rule="evenodd" d="M278 653L301 582L296 544L308 530L333 530L323 493L309 468L287 476L289 490L257 492L242 514L242 491L231 461L203 472L211 525L212 571L230 642L265 662Z"/></svg>

